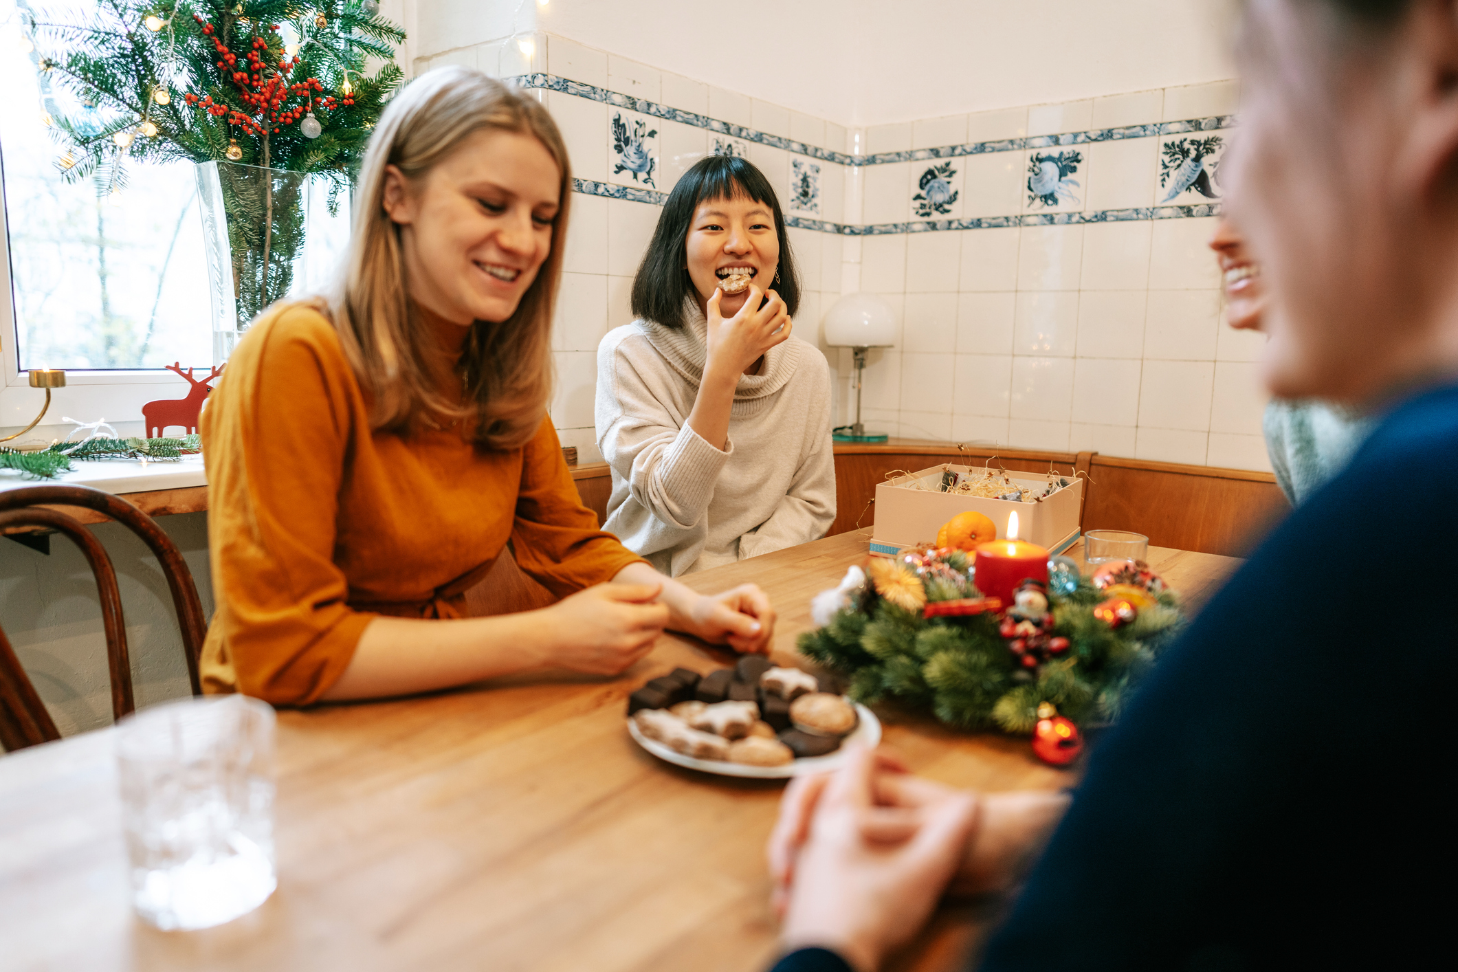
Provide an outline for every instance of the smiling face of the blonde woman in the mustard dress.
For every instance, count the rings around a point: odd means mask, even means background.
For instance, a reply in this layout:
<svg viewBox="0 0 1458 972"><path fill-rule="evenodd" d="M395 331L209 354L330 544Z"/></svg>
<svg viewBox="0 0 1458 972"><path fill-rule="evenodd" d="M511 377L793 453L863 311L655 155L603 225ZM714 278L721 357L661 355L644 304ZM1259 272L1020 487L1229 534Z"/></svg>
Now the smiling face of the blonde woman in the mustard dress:
<svg viewBox="0 0 1458 972"><path fill-rule="evenodd" d="M506 321L551 252L561 173L532 136L478 131L411 182L389 168L410 296L456 324Z"/></svg>

